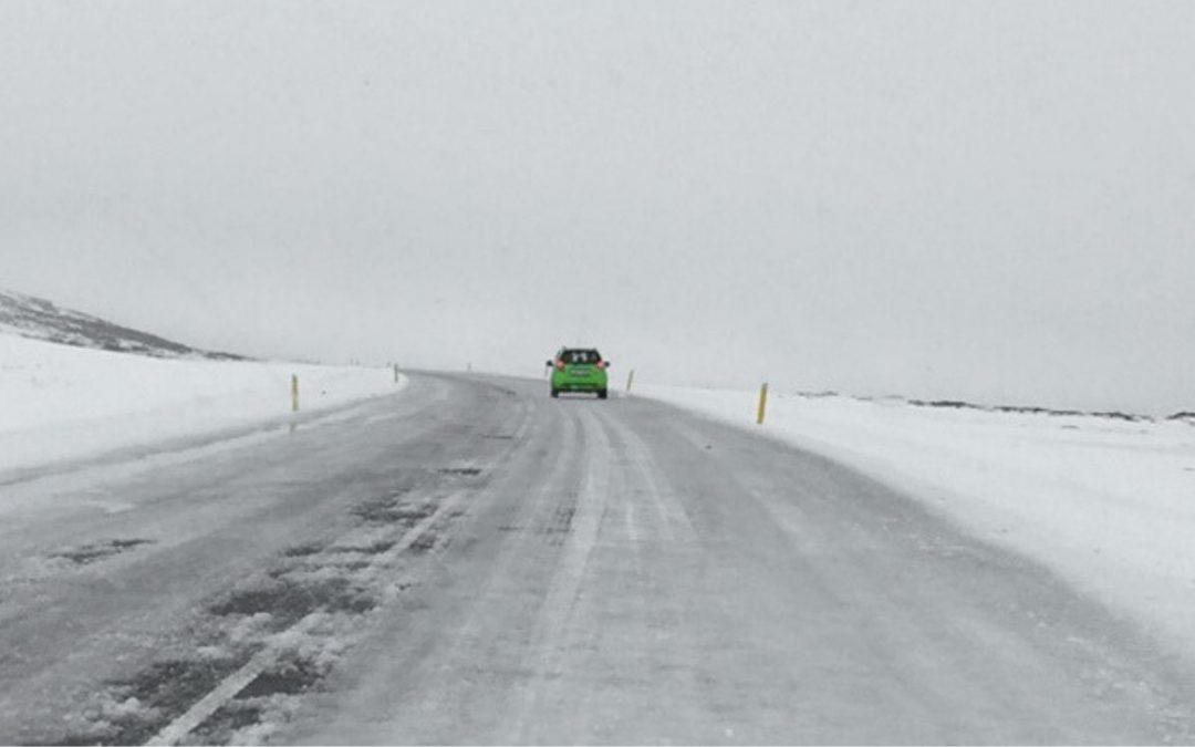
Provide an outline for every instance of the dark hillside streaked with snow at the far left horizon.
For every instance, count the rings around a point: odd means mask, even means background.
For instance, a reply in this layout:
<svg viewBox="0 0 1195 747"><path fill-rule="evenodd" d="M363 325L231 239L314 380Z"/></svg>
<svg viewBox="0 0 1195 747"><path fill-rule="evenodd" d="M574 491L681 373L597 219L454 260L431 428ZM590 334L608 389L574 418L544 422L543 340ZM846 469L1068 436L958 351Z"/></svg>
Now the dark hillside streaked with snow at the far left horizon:
<svg viewBox="0 0 1195 747"><path fill-rule="evenodd" d="M62 308L45 299L0 290L0 332L45 339L80 348L136 353L155 357L240 359L164 339L82 312Z"/></svg>

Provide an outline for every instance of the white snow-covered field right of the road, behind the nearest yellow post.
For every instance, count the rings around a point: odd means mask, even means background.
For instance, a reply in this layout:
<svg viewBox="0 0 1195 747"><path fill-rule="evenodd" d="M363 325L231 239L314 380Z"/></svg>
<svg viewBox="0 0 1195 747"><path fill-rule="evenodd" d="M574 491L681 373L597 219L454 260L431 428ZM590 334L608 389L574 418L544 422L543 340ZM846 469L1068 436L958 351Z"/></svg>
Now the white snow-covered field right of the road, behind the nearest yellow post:
<svg viewBox="0 0 1195 747"><path fill-rule="evenodd" d="M1195 427L645 386L903 488L1195 657Z"/></svg>

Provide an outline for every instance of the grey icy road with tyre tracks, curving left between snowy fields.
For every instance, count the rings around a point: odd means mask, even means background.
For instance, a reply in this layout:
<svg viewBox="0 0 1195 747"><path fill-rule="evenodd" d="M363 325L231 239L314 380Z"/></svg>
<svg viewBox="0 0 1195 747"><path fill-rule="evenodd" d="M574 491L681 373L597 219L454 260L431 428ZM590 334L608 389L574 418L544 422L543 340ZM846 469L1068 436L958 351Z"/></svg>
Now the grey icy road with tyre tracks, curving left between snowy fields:
<svg viewBox="0 0 1195 747"><path fill-rule="evenodd" d="M1195 741L1043 568L638 398L400 396L0 485L0 743Z"/></svg>

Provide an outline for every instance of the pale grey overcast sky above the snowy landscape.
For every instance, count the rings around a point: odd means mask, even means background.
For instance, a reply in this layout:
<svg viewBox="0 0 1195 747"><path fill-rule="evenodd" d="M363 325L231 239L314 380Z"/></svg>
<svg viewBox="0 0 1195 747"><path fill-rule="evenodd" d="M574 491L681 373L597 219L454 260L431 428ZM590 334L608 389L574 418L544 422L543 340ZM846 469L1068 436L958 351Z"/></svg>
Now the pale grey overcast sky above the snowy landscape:
<svg viewBox="0 0 1195 747"><path fill-rule="evenodd" d="M1195 409L1195 2L0 0L0 287L183 342Z"/></svg>

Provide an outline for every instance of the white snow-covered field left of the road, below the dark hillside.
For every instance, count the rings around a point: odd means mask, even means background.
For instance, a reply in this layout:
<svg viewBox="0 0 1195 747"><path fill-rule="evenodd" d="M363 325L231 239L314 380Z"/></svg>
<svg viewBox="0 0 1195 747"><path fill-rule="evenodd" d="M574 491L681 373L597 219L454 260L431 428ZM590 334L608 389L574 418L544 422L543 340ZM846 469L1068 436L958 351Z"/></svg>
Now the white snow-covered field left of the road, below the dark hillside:
<svg viewBox="0 0 1195 747"><path fill-rule="evenodd" d="M154 359L0 333L0 473L249 427L392 393L393 373L287 362Z"/></svg>

